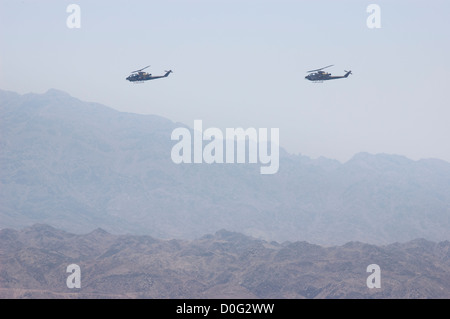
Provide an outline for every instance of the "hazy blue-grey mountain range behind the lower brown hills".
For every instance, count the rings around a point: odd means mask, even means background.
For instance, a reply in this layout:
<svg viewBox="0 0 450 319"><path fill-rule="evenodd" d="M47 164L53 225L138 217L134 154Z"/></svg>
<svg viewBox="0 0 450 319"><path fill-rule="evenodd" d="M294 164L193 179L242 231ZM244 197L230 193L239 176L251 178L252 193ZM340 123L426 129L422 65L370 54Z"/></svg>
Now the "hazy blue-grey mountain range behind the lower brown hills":
<svg viewBox="0 0 450 319"><path fill-rule="evenodd" d="M450 239L450 163L281 151L274 175L259 164L177 165L170 136L180 126L53 89L0 91L0 228L168 239L227 229L324 245Z"/></svg>

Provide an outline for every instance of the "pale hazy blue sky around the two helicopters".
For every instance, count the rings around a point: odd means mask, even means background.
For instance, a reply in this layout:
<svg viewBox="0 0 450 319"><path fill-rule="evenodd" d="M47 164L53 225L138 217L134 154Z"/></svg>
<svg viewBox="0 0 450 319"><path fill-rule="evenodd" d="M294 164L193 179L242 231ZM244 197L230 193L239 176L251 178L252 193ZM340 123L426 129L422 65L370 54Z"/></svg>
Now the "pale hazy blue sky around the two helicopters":
<svg viewBox="0 0 450 319"><path fill-rule="evenodd" d="M81 8L69 29L68 5ZM369 4L381 28L369 29ZM50 88L204 128L279 128L290 153L450 161L450 1L0 0L0 88ZM146 65L168 78L133 84ZM347 79L315 84L307 70ZM170 136L168 136L170 139Z"/></svg>

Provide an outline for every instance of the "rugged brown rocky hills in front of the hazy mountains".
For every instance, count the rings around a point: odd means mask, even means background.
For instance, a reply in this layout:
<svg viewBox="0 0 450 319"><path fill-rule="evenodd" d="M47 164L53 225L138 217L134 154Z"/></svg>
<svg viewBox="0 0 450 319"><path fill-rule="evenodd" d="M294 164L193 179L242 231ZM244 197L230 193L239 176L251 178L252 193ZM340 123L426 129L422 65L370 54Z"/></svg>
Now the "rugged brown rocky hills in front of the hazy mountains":
<svg viewBox="0 0 450 319"><path fill-rule="evenodd" d="M450 243L266 242L220 230L196 240L0 230L0 298L450 298ZM67 266L81 270L69 289ZM380 267L368 288L367 266Z"/></svg>

